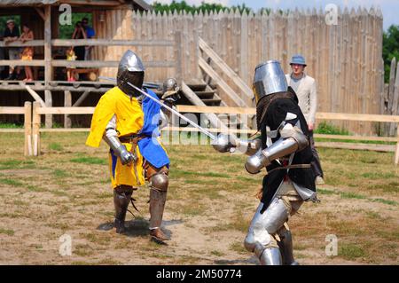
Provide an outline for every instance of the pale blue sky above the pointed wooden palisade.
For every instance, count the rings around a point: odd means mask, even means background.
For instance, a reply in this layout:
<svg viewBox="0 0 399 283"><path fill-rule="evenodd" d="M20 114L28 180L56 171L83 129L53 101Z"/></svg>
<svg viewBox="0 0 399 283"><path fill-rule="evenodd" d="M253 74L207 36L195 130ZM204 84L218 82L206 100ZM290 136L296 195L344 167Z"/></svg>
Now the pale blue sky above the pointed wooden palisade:
<svg viewBox="0 0 399 283"><path fill-rule="evenodd" d="M155 0L158 3L171 3L172 0ZM147 0L147 3L152 4L154 0ZM202 1L207 3L218 3L225 6L246 4L246 6L252 8L254 11L259 10L262 7L271 8L273 10L294 10L307 8L317 8L319 10L325 10L327 4L336 4L341 8L348 7L364 7L370 9L373 7L379 7L382 11L384 18L384 30L387 30L391 25L399 25L399 0L185 0L187 4L199 5Z"/></svg>

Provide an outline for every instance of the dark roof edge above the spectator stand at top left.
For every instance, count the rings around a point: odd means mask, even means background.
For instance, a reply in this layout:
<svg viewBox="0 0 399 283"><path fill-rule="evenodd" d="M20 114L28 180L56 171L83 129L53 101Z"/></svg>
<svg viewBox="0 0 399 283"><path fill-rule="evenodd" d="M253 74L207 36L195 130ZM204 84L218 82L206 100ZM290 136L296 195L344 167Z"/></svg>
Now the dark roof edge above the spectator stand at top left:
<svg viewBox="0 0 399 283"><path fill-rule="evenodd" d="M41 6L63 3L85 6L118 6L122 4L133 4L143 10L152 10L152 6L145 3L144 0L1 0L0 7Z"/></svg>

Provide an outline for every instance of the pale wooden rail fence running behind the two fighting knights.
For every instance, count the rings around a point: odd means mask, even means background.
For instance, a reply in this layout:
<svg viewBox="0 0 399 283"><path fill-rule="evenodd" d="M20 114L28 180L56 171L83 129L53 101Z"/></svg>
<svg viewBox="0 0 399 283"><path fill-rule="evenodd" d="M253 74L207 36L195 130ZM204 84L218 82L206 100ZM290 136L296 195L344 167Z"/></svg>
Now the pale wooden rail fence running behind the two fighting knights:
<svg viewBox="0 0 399 283"><path fill-rule="evenodd" d="M255 114L255 108L248 107L225 107L225 106L176 106L177 111L181 113L199 113L199 114ZM1 111L1 108L0 108ZM94 107L41 107L39 102L34 102L33 105L33 124L32 137L34 139L34 155L40 154L40 132L66 132L66 131L89 131L90 129L40 129L40 115L43 114L93 114ZM1 112L0 112L1 114ZM361 122L395 122L399 123L399 115L377 115L377 114L342 114L342 113L317 113L316 118L319 120L346 120L346 121L361 121ZM399 127L398 127L399 129ZM176 131L198 131L191 127L168 127L165 130ZM208 129L211 132L221 132L221 129ZM239 130L229 129L231 133L241 133L253 135L256 130ZM353 140L372 140L395 142L396 145L362 145L362 144L348 144L348 143L317 143L318 146L334 147L334 148L348 148L348 149L362 149L375 151L395 151L395 164L399 163L399 130L396 138L388 137L360 137L360 136L342 136L342 135L321 135L316 134L315 138L331 138L331 139L353 139Z"/></svg>

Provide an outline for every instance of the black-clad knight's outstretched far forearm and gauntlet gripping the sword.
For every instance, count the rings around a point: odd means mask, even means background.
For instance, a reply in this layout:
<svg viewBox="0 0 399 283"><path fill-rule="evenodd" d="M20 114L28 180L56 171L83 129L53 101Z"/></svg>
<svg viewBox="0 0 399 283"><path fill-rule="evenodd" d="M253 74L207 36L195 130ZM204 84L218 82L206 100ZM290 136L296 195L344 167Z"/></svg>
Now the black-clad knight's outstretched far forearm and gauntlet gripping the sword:
<svg viewBox="0 0 399 283"><path fill-rule="evenodd" d="M233 135L219 134L212 142L215 150L219 153L231 152L231 150L239 149L246 155L252 155L261 148L261 139L241 140Z"/></svg>

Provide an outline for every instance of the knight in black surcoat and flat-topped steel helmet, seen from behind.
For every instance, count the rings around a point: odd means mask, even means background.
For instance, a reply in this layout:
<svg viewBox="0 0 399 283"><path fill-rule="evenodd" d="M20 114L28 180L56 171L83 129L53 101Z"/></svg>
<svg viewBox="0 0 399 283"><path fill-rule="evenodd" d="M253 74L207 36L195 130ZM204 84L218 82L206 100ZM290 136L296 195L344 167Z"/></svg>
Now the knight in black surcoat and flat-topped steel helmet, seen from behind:
<svg viewBox="0 0 399 283"><path fill-rule="evenodd" d="M213 142L219 152L240 149L249 155L251 174L266 168L262 197L249 225L245 248L264 265L296 265L287 224L303 201L318 201L310 163L309 129L293 89L278 61L260 64L254 72L256 124L261 137L250 141L220 134Z"/></svg>

